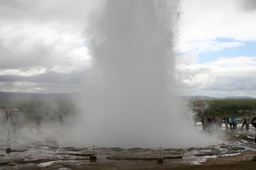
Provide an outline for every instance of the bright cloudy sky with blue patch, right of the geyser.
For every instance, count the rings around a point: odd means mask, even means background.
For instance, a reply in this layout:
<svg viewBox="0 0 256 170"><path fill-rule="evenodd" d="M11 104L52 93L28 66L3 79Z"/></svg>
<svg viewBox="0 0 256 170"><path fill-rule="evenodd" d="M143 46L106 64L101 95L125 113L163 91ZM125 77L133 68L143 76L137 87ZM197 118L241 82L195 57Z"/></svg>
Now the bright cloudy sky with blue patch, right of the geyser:
<svg viewBox="0 0 256 170"><path fill-rule="evenodd" d="M183 1L181 10L187 94L256 97L256 1Z"/></svg>

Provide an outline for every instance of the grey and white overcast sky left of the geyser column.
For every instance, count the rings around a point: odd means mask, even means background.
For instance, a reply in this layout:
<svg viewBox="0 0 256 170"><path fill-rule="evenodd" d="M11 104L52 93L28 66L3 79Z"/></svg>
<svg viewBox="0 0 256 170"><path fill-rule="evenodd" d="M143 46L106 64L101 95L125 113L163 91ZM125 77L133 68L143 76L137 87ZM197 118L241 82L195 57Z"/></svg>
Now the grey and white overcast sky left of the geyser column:
<svg viewBox="0 0 256 170"><path fill-rule="evenodd" d="M75 91L91 65L85 29L97 2L0 0L1 91Z"/></svg>

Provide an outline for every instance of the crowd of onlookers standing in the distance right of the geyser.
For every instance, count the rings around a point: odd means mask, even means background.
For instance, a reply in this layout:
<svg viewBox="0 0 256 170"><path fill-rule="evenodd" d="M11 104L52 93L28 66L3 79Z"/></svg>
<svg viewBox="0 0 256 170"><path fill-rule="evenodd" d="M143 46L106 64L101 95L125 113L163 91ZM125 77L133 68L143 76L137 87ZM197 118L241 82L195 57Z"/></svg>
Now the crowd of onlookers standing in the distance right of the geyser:
<svg viewBox="0 0 256 170"><path fill-rule="evenodd" d="M224 118L219 118L218 116L201 116L201 122L204 130L221 130L222 123L225 124L226 130L237 130L237 116L229 116ZM246 126L246 130L249 130L250 118L246 114L243 118L243 124L241 126L241 130L243 126Z"/></svg>

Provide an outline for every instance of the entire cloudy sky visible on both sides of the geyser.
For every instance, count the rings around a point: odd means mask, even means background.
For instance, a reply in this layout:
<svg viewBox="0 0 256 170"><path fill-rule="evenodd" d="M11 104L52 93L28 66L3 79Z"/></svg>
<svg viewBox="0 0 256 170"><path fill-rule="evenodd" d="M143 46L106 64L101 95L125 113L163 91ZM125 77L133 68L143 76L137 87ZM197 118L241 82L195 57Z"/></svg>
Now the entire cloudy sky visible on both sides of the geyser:
<svg viewBox="0 0 256 170"><path fill-rule="evenodd" d="M256 97L256 1L181 1L185 95ZM0 0L0 91L72 92L92 58L84 0Z"/></svg>

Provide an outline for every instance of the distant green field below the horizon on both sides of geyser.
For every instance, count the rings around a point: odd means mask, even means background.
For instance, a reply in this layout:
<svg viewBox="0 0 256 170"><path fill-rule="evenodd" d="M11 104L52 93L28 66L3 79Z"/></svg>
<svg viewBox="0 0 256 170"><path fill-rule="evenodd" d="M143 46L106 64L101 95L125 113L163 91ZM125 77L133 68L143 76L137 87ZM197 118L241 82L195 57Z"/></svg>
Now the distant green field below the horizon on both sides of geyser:
<svg viewBox="0 0 256 170"><path fill-rule="evenodd" d="M35 103L40 103L40 107L37 107ZM190 107L204 106L207 108L204 113L213 116L228 116L230 114L236 116L250 114L252 116L256 112L256 99L191 99L189 105ZM35 111L47 115L75 112L75 104L72 103L72 100L69 100L69 97L0 98L0 108L20 108L28 117L36 114ZM202 114L202 112L198 113Z"/></svg>

